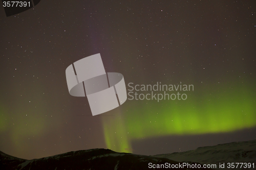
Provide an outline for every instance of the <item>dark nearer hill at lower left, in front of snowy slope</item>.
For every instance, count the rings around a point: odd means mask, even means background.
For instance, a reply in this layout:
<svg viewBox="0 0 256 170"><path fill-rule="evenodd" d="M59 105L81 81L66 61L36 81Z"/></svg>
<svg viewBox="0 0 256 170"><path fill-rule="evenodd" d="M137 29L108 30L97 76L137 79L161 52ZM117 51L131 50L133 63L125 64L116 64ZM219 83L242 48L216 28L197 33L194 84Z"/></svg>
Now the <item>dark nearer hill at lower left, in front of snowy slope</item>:
<svg viewBox="0 0 256 170"><path fill-rule="evenodd" d="M182 162L173 161L167 158L156 158L145 155L135 155L131 153L118 153L109 149L90 149L71 151L64 154L58 154L39 159L20 159L1 152L1 169L17 170L45 170L45 169L149 169L149 163L152 165L168 164L175 169L190 169L181 166ZM184 163L184 162L183 162ZM189 164L198 164L189 162ZM166 168L157 168L166 169ZM199 168L205 169L205 168Z"/></svg>

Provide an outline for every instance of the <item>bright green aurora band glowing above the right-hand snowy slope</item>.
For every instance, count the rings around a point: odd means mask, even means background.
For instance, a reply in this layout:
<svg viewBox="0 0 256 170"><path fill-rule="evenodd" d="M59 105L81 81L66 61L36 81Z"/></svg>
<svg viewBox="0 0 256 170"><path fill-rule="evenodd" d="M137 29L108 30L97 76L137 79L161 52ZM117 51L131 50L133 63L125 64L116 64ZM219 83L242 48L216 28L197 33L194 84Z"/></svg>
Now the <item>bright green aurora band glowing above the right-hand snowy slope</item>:
<svg viewBox="0 0 256 170"><path fill-rule="evenodd" d="M103 119L106 146L116 152L132 153L131 141L141 138L225 133L255 127L252 89L227 88L212 94L201 90L205 92L200 98L188 95L185 101L166 100L161 105L157 101L127 100L129 105L122 106L122 116L111 121Z"/></svg>

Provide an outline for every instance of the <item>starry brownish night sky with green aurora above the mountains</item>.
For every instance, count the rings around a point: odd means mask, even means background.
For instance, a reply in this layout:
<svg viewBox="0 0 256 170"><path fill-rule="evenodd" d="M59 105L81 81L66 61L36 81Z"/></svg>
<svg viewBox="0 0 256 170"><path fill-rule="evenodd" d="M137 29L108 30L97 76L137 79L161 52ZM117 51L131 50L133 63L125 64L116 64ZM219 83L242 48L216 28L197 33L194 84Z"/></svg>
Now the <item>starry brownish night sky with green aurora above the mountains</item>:
<svg viewBox="0 0 256 170"><path fill-rule="evenodd" d="M0 8L0 150L34 159L109 148L155 155L256 139L254 1L41 1ZM185 101L92 116L65 70L100 53L126 84L193 84Z"/></svg>

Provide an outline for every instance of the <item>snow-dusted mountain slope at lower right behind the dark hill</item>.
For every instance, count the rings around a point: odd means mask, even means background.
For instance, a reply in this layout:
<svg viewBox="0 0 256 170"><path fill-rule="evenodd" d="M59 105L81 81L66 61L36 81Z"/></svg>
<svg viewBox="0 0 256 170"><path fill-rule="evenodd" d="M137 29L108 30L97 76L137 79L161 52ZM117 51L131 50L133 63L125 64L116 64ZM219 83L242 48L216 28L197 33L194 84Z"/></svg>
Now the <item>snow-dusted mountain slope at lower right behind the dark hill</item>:
<svg viewBox="0 0 256 170"><path fill-rule="evenodd" d="M192 161L201 164L217 164L217 169L256 169L256 140L231 142L218 144L211 147L200 147L193 151L179 152L172 154L155 155L158 158L168 158L175 161ZM251 168L228 168L228 163L251 163ZM225 168L219 168L219 164L224 163ZM254 168L252 168L254 163ZM245 165L245 164L244 164ZM248 165L248 164L247 164ZM242 166L243 167L243 166Z"/></svg>

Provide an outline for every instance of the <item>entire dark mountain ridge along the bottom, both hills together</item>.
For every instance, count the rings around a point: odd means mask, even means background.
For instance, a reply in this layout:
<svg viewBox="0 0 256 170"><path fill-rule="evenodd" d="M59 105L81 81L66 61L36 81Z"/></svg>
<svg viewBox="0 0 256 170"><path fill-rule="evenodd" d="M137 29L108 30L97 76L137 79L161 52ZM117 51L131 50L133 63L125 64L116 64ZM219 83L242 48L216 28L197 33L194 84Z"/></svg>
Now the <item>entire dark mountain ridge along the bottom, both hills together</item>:
<svg viewBox="0 0 256 170"><path fill-rule="evenodd" d="M71 151L49 157L26 160L17 158L0 151L0 169L14 170L45 170L45 169L151 169L152 165L177 166L175 169L204 169L188 168L189 165L203 167L203 164L216 164L215 169L220 168L219 163L245 162L254 163L256 166L256 140L223 143L214 146L199 147L196 150L175 152L172 154L160 154L153 156L136 155L131 153L118 153L109 149L89 149ZM185 167L181 164L187 164ZM198 165L198 166L195 166ZM152 169L153 166L151 166ZM156 169L166 169L156 168ZM210 168L208 168L210 169ZM243 169L243 168L235 168ZM244 168L252 169L252 168Z"/></svg>

